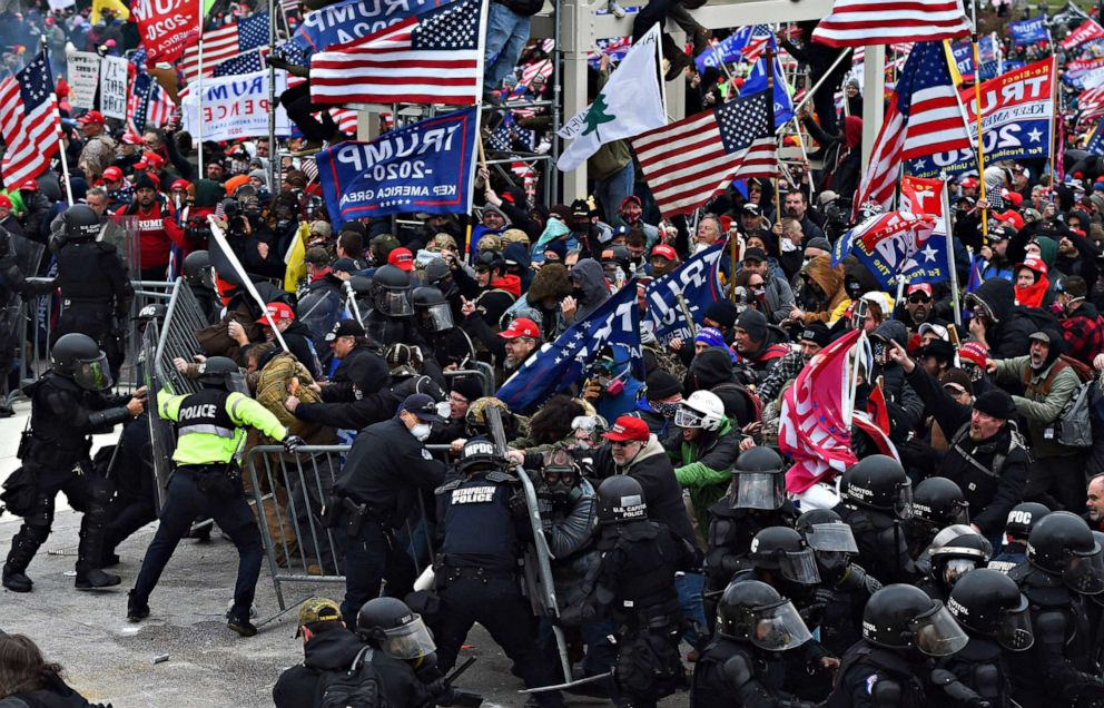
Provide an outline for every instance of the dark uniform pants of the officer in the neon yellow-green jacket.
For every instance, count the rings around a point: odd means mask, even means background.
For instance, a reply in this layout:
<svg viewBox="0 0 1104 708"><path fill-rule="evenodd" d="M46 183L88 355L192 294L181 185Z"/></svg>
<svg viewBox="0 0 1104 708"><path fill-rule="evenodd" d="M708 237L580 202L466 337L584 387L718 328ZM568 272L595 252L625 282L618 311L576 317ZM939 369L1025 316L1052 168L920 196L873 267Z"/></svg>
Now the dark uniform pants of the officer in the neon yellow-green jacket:
<svg viewBox="0 0 1104 708"><path fill-rule="evenodd" d="M200 489L201 474L218 473L179 469L172 475L165 507L161 509L161 521L146 550L134 593L139 600L147 601L177 543L191 529L193 520L210 518L237 547L238 578L234 586L234 607L230 613L236 618L248 619L265 553L260 531L257 530L257 521L244 493L226 496L205 492Z"/></svg>

